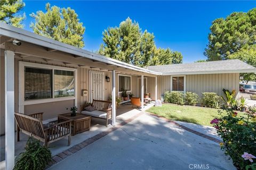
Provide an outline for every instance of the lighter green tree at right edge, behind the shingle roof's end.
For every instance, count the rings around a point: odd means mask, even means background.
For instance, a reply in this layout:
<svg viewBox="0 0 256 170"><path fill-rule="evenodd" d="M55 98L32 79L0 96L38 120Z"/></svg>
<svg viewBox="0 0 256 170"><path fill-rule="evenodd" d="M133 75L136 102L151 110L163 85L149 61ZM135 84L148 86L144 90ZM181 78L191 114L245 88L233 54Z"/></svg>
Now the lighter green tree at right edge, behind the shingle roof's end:
<svg viewBox="0 0 256 170"><path fill-rule="evenodd" d="M229 55L228 59L239 59L247 64L256 67L256 44L248 48L241 49L238 52ZM247 82L256 81L256 74L254 73L241 73L241 75Z"/></svg>

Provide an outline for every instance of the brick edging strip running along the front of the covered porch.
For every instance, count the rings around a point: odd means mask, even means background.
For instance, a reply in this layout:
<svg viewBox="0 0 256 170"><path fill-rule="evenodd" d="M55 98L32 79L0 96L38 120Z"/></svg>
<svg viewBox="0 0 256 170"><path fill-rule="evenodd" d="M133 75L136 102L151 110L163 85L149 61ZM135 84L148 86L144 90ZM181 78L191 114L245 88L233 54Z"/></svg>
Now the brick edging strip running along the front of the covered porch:
<svg viewBox="0 0 256 170"><path fill-rule="evenodd" d="M96 135L94 135L93 137L91 138L88 138L86 139L85 141L81 142L81 143L78 143L77 145L67 149L67 150L64 150L62 152L60 152L59 154L57 155L54 155L52 156L52 159L50 161L50 163L46 166L46 168L49 168L50 166L56 164L56 163L59 163L61 162L61 160L67 158L68 156L70 155L73 155L74 153L76 153L78 150L81 150L82 148L90 145L91 143L99 140L100 138L103 138L105 137L106 135L108 135L109 133L111 132L114 132L116 131L117 129L121 128L122 126L126 125L127 123L133 121L135 118L141 116L142 114L144 114L143 112L140 112L134 116L132 116L131 118L121 122L121 123L118 123L117 125L111 127L110 129L106 130L106 131L103 131L103 132L100 132Z"/></svg>

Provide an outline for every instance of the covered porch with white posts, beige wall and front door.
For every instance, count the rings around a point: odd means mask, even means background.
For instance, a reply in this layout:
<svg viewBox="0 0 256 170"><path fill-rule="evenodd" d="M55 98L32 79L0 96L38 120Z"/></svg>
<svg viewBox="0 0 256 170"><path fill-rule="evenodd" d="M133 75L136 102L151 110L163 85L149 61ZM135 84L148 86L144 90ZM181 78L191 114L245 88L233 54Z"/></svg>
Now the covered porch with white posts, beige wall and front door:
<svg viewBox="0 0 256 170"><path fill-rule="evenodd" d="M150 93L152 100L157 99L159 73L5 23L1 23L0 29L1 160L4 153L6 169L13 168L14 155L23 149L27 139L27 136L22 135L20 142L15 140L14 112L25 115L44 112L43 120L54 120L59 114L70 113L70 107L76 106L79 109L84 103L92 103L93 99L111 99L111 108L116 108L116 99L120 98L121 103L126 103L121 96L124 90L141 99L141 110L153 105L144 107L145 92ZM21 44L14 45L13 40ZM131 105L123 104L120 108L112 109L111 125L115 126L140 112ZM101 127L97 119L92 119L92 125L90 131L72 137L71 146L76 141L85 140L111 127ZM67 147L65 139L51 145L56 149L52 151L53 155L58 152L58 146Z"/></svg>

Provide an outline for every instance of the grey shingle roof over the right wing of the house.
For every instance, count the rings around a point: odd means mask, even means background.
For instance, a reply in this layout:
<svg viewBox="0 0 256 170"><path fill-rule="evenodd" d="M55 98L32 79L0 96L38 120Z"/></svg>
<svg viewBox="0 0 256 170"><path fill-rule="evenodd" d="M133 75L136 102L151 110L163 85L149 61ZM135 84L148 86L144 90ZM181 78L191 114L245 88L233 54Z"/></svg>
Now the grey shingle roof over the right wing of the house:
<svg viewBox="0 0 256 170"><path fill-rule="evenodd" d="M252 73L255 67L240 60L212 61L203 63L186 63L148 66L148 70L164 75L178 74L214 74L214 73Z"/></svg>

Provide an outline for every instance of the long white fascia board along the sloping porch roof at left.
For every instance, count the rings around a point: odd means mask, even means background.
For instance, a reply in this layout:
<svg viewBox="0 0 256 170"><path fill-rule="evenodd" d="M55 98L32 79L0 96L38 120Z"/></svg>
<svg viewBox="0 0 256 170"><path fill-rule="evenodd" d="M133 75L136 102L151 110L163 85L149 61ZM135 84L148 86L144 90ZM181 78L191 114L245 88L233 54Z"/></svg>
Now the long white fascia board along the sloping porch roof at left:
<svg viewBox="0 0 256 170"><path fill-rule="evenodd" d="M77 56L82 56L85 58L89 58L91 60L97 60L103 63L113 64L116 66L121 66L126 69L131 69L135 71L155 74L155 75L162 75L162 73L150 71L138 66L134 66L131 64L127 64L113 58L105 57L96 53L89 52L85 49L77 48L65 43L61 43L57 40L53 40L51 38L47 38L41 35L37 35L36 33L29 32L27 30L23 30L20 28L13 27L12 25L6 24L4 22L0 22L0 34L3 36L7 36L10 38L16 38L18 40L26 41L31 44L36 44L39 46L44 46L52 49L57 49L62 52L66 52L69 54L74 54Z"/></svg>

